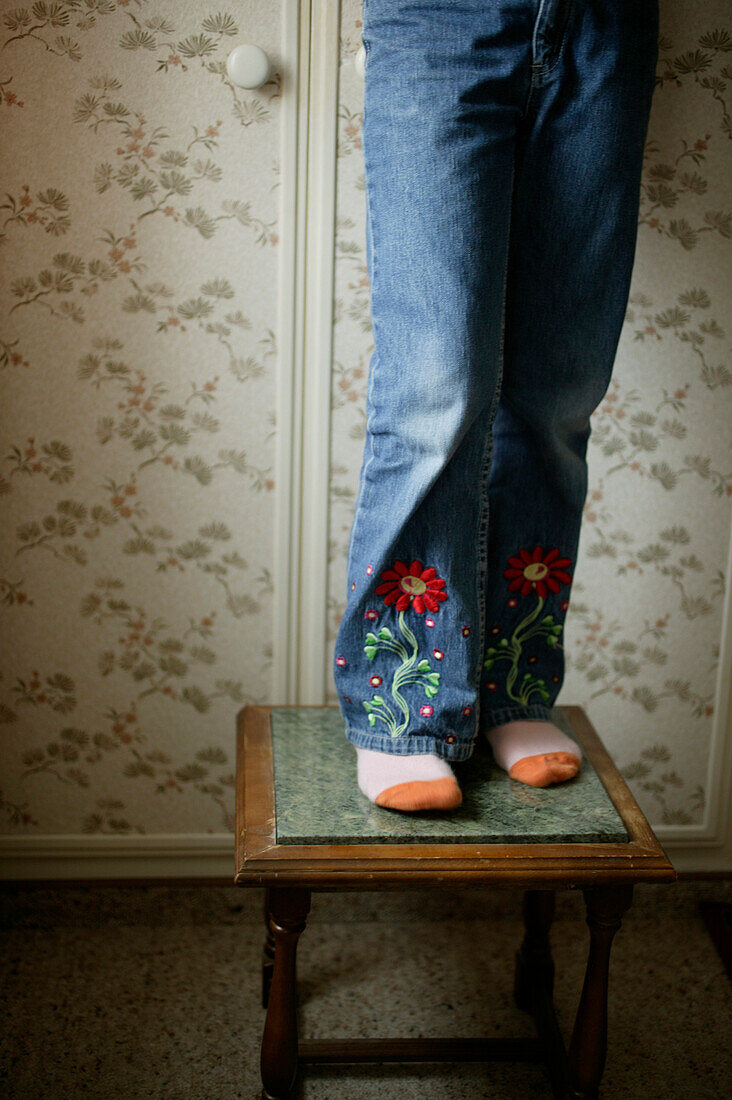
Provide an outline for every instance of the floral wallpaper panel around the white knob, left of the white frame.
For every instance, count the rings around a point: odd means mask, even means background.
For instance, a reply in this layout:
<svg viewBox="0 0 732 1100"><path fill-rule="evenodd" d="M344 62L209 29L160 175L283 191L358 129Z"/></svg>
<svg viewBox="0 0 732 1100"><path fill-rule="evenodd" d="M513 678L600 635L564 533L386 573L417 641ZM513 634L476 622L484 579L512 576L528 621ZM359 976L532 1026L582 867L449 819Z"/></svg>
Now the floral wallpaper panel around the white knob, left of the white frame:
<svg viewBox="0 0 732 1100"><path fill-rule="evenodd" d="M278 24L0 3L6 833L233 829L272 671Z"/></svg>

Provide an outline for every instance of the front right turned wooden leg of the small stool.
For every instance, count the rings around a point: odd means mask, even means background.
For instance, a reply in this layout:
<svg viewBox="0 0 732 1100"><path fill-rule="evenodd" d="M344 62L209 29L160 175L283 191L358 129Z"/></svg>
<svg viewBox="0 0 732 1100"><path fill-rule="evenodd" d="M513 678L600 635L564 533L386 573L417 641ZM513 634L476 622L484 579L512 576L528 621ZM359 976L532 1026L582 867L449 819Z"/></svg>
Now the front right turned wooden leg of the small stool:
<svg viewBox="0 0 732 1100"><path fill-rule="evenodd" d="M613 936L633 901L632 886L586 887L590 953L569 1045L571 1096L596 1100L608 1049L608 972Z"/></svg>

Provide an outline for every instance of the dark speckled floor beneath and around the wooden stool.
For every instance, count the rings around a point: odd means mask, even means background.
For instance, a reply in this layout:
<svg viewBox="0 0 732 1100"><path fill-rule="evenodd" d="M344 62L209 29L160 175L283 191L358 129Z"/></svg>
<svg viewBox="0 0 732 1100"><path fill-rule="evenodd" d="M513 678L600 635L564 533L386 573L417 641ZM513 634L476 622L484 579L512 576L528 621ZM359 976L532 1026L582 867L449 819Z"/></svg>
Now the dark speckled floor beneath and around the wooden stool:
<svg viewBox="0 0 732 1100"><path fill-rule="evenodd" d="M730 882L636 887L611 964L603 1100L730 1094L731 987L699 916ZM6 887L0 1096L258 1100L262 892ZM316 893L301 941L301 1031L524 1035L513 1005L521 895ZM587 946L558 895L556 1003L568 1037ZM538 1066L313 1068L297 1100L550 1097Z"/></svg>

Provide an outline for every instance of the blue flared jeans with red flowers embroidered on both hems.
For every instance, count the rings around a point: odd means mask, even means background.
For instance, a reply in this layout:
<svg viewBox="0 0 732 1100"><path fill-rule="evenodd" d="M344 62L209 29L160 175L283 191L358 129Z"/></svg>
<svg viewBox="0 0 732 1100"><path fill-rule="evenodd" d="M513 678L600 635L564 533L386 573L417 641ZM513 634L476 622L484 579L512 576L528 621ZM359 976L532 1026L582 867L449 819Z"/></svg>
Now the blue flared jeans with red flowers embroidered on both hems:
<svg viewBox="0 0 732 1100"><path fill-rule="evenodd" d="M463 760L550 719L657 36L657 0L364 0L374 351L334 668L357 746Z"/></svg>

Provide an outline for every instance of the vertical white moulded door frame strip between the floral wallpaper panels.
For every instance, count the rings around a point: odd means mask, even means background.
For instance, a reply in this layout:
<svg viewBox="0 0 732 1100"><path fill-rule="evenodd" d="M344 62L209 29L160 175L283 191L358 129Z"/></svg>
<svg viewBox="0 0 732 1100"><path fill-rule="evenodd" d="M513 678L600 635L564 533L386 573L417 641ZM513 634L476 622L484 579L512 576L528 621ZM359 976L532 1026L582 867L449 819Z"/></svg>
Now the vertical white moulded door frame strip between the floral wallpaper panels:
<svg viewBox="0 0 732 1100"><path fill-rule="evenodd" d="M283 21L272 700L323 705L340 3L284 0Z"/></svg>

